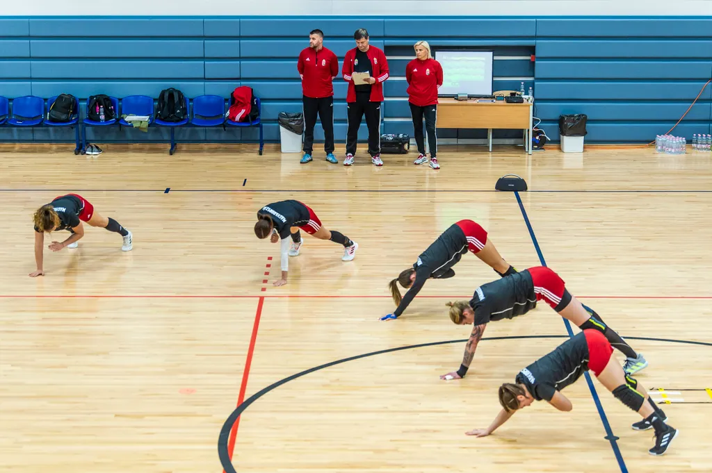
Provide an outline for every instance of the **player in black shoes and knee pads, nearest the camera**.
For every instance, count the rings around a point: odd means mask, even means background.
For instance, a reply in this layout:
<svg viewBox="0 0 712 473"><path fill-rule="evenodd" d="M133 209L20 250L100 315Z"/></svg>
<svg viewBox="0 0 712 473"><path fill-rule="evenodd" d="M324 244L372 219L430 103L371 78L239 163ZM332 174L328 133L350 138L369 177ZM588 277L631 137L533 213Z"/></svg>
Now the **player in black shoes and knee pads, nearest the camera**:
<svg viewBox="0 0 712 473"><path fill-rule="evenodd" d="M474 429L466 434L486 437L517 410L535 400L546 400L558 410L570 411L571 401L561 390L590 370L615 398L642 415L643 420L633 424L634 430L655 429L655 445L648 452L650 455L663 455L679 430L665 423L665 413L655 405L641 384L624 373L611 356L612 352L611 344L600 331L586 329L580 332L520 371L514 383L500 386L499 402L503 409L489 427Z"/></svg>

